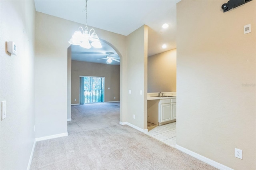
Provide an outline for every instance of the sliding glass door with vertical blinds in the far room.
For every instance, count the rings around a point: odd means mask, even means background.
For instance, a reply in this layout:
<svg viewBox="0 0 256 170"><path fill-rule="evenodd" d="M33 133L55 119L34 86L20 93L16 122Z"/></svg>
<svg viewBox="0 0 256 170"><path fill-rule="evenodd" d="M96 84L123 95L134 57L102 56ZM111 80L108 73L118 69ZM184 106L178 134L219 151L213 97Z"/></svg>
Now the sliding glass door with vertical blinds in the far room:
<svg viewBox="0 0 256 170"><path fill-rule="evenodd" d="M80 104L104 102L105 77L80 76Z"/></svg>

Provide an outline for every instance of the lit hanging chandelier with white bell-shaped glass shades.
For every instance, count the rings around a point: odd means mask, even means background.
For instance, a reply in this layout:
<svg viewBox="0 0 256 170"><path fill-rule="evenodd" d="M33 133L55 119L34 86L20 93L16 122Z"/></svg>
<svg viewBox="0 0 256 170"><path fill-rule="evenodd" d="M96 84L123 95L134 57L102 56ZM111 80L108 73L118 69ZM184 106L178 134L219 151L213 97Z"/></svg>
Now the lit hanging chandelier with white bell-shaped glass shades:
<svg viewBox="0 0 256 170"><path fill-rule="evenodd" d="M86 13L86 25L84 27L84 30L82 27L78 27L78 30L74 32L72 38L68 41L68 43L72 45L80 45L83 48L91 48L92 46L94 48L102 48L102 45L100 43L100 39L98 38L97 34L95 33L95 30L92 28L88 32L88 26L87 26L87 1L86 5L83 11ZM82 32L81 32L82 31ZM92 31L92 33L91 33Z"/></svg>

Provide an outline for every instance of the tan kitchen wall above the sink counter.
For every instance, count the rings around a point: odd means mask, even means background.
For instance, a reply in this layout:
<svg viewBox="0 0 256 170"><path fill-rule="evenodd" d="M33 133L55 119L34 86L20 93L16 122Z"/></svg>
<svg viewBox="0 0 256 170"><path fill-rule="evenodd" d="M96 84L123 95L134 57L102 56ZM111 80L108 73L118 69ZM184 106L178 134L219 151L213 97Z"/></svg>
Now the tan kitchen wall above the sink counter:
<svg viewBox="0 0 256 170"><path fill-rule="evenodd" d="M148 57L148 93L176 91L176 49Z"/></svg>

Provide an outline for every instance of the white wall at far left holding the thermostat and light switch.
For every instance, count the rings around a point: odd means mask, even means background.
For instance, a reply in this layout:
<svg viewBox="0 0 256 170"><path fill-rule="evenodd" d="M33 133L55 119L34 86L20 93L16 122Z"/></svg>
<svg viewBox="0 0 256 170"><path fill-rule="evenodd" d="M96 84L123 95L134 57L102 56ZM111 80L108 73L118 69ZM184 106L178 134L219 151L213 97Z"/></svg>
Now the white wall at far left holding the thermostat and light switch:
<svg viewBox="0 0 256 170"><path fill-rule="evenodd" d="M1 121L0 169L26 169L35 139L34 1L0 1L0 101L7 116ZM8 55L13 41L17 55Z"/></svg>

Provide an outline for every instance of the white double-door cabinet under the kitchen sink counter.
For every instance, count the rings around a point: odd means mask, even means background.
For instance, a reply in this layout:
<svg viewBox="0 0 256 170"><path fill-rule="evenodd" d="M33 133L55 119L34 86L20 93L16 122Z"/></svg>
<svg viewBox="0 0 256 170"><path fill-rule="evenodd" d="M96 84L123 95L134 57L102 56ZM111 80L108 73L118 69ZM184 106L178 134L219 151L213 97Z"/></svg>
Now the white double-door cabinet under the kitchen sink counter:
<svg viewBox="0 0 256 170"><path fill-rule="evenodd" d="M159 123L176 119L176 99L161 99L158 108Z"/></svg>

